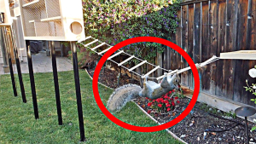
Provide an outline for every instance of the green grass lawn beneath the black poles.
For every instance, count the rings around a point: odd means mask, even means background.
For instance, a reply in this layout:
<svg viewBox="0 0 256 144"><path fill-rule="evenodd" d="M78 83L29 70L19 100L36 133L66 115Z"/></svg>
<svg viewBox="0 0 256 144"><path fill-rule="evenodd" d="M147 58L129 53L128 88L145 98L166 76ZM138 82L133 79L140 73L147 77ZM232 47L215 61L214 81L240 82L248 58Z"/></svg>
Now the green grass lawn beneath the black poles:
<svg viewBox="0 0 256 144"><path fill-rule="evenodd" d="M140 133L113 124L100 111L94 100L91 80L79 71L84 111L84 143L179 143L165 130ZM9 75L0 76L0 143L79 143L79 120L73 72L59 72L63 125L58 125L52 72L35 73L39 119L34 118L29 75L23 74L27 103L21 100L20 86L15 75L18 96L13 95ZM104 104L111 89L100 86ZM137 106L129 103L115 115L122 121L138 126L155 124Z"/></svg>

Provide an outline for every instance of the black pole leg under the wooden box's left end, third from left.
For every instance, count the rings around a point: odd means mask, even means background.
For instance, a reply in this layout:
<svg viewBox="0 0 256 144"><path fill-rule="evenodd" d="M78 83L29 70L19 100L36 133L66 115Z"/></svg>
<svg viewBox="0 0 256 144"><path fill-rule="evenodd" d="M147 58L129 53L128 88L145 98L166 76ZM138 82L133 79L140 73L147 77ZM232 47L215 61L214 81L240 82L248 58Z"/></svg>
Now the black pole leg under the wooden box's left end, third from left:
<svg viewBox="0 0 256 144"><path fill-rule="evenodd" d="M38 101L37 101L37 93L36 93L36 86L35 86L35 79L34 79L34 72L32 66L32 56L30 52L30 42L26 40L26 54L27 54L27 64L28 64L28 71L29 71L29 78L31 84L31 91L32 91L32 101L34 107L34 115L35 118L38 119Z"/></svg>

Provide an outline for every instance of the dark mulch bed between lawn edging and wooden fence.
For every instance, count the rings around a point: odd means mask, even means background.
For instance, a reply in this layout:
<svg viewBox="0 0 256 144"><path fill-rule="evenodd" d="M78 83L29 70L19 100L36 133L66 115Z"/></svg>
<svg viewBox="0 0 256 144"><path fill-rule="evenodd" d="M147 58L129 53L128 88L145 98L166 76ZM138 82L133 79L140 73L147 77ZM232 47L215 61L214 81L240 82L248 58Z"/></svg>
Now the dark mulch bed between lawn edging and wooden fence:
<svg viewBox="0 0 256 144"><path fill-rule="evenodd" d="M87 69L90 76L93 77L94 70ZM110 88L116 89L118 87L119 72L105 68L100 73L99 82L107 85ZM124 84L138 84L136 80L132 80L127 75L122 75L119 80L119 86ZM172 112L158 113L151 112L150 115L156 119L160 124L169 122L176 118L188 106L190 99L187 97L179 99L180 104L175 107ZM139 98L135 102L142 107L145 112L151 110L147 106L148 100ZM238 125L237 125L238 124ZM180 137L183 141L188 143L247 143L247 136L245 127L243 126L244 119L232 118L224 112L219 111L206 104L197 102L189 115L180 123L169 128L172 133ZM248 123L249 128L252 128L253 123ZM236 126L235 126L236 125ZM234 127L235 126L235 127ZM232 128L234 127L234 128ZM207 131L208 130L208 131ZM213 132L221 131L221 132ZM206 136L204 136L207 134ZM256 132L249 132L250 143L255 143Z"/></svg>

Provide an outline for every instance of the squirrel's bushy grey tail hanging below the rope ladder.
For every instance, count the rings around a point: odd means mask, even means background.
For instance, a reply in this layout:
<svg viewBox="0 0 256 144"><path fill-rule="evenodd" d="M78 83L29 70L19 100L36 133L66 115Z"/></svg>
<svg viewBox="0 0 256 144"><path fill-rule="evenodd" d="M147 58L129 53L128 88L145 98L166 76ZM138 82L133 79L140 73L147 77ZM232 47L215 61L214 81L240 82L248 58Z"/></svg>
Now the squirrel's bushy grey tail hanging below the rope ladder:
<svg viewBox="0 0 256 144"><path fill-rule="evenodd" d="M125 104L132 99L135 99L142 88L136 84L126 84L118 89L115 89L108 99L108 111L119 112Z"/></svg>

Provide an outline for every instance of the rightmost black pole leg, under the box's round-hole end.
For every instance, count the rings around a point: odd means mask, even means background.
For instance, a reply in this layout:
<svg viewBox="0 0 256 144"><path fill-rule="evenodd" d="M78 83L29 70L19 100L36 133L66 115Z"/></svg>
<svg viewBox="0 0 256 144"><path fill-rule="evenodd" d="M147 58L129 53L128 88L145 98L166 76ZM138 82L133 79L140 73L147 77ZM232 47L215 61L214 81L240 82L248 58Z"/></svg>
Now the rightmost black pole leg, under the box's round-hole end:
<svg viewBox="0 0 256 144"><path fill-rule="evenodd" d="M73 53L73 73L74 73L74 79L75 79L77 105L78 105L78 112L79 112L79 130L80 130L80 138L81 138L80 141L85 141L83 108L82 108L81 90L80 90L80 82L79 82L79 66L78 66L77 48L76 48L75 42L71 42L71 49Z"/></svg>

